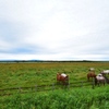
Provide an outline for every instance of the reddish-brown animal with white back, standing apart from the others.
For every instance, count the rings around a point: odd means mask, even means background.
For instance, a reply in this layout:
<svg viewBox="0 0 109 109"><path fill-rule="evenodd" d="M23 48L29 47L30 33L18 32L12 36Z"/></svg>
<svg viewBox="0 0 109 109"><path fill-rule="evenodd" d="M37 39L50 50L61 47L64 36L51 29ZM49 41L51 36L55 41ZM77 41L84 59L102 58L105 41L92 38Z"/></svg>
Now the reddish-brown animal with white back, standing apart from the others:
<svg viewBox="0 0 109 109"><path fill-rule="evenodd" d="M57 83L61 82L63 85L69 84L69 75L64 73L57 73Z"/></svg>

